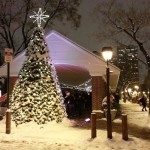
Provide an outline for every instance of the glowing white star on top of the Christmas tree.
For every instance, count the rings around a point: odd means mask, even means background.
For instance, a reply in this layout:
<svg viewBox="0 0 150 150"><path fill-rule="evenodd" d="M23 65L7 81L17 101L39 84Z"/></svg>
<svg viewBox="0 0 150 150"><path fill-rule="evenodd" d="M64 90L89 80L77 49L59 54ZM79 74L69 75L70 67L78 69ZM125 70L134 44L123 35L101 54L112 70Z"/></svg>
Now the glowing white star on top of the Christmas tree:
<svg viewBox="0 0 150 150"><path fill-rule="evenodd" d="M49 18L49 15L45 15L45 12L42 12L42 8L39 8L39 11L36 13L33 11L35 15L30 16L30 18L35 18L34 22L37 22L38 27L41 27L41 21L46 22L45 18Z"/></svg>

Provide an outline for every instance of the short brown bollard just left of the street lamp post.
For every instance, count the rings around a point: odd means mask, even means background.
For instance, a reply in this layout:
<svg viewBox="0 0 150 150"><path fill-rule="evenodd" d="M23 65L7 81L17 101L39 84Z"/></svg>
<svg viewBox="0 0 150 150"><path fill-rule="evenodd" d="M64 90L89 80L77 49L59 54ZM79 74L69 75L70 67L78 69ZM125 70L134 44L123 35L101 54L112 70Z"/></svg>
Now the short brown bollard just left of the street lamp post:
<svg viewBox="0 0 150 150"><path fill-rule="evenodd" d="M96 113L91 113L91 138L96 137Z"/></svg>

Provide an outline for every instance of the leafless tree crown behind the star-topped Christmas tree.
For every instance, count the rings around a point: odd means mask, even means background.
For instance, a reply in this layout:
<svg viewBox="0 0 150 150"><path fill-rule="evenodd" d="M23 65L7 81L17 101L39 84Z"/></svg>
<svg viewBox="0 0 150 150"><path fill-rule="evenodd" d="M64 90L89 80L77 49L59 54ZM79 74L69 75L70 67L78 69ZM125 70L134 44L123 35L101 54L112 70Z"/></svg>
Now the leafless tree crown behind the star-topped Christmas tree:
<svg viewBox="0 0 150 150"><path fill-rule="evenodd" d="M79 27L81 16L78 6L82 0L0 0L0 49L12 48L14 55L27 47L31 31L35 27L29 18L38 8L50 16L43 28L54 26L54 20L72 23ZM29 20L30 19L30 20ZM65 22L64 21L64 22Z"/></svg>

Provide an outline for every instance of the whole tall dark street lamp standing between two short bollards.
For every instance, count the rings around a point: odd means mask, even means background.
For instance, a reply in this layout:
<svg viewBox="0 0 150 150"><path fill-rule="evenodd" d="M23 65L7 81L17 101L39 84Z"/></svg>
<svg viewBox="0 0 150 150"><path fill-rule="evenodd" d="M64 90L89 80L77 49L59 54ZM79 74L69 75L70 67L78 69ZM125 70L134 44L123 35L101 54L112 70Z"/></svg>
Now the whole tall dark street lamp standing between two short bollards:
<svg viewBox="0 0 150 150"><path fill-rule="evenodd" d="M111 120L111 112L110 112L110 93L109 93L109 80L110 80L110 71L109 71L109 60L112 58L112 48L111 47L103 47L102 48L102 56L107 62L106 67L106 79L107 79L107 138L112 139L112 120Z"/></svg>

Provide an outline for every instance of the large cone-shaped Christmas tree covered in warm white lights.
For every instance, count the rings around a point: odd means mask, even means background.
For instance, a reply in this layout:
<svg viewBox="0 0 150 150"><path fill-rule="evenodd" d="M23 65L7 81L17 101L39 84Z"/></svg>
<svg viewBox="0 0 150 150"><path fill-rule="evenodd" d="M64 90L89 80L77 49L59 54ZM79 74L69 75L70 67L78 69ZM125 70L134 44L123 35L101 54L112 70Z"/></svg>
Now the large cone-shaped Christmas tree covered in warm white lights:
<svg viewBox="0 0 150 150"><path fill-rule="evenodd" d="M40 27L41 20L38 19L37 22L40 22L31 36L26 60L11 96L12 120L16 125L31 121L37 124L53 120L61 122L66 116L56 71Z"/></svg>

